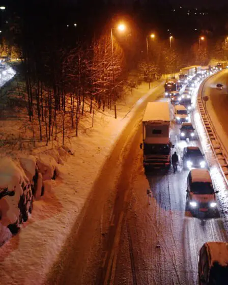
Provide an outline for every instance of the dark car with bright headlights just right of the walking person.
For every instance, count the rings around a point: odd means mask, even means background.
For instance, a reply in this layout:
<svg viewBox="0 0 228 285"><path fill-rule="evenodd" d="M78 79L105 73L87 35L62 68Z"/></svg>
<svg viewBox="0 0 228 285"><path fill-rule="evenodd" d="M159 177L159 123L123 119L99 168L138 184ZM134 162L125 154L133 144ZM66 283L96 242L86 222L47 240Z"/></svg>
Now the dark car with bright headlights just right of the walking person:
<svg viewBox="0 0 228 285"><path fill-rule="evenodd" d="M199 147L185 147L182 160L184 169L208 168L207 161Z"/></svg>

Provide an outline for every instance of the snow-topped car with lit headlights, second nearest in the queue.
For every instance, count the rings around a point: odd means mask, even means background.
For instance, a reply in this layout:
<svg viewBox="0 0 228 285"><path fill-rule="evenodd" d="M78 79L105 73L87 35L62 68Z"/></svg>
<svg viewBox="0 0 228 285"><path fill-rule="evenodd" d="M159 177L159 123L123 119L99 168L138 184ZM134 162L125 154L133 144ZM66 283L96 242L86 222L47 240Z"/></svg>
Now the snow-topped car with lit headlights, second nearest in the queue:
<svg viewBox="0 0 228 285"><path fill-rule="evenodd" d="M191 169L187 177L186 209L194 212L217 211L212 179L207 169Z"/></svg>

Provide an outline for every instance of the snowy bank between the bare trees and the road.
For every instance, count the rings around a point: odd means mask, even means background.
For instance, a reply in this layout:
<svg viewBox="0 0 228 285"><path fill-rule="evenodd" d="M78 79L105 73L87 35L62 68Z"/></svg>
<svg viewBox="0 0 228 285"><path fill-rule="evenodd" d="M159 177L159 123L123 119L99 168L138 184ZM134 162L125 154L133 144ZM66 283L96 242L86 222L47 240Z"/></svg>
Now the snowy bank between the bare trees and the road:
<svg viewBox="0 0 228 285"><path fill-rule="evenodd" d="M2 284L43 282L118 136L140 103L157 86L162 87L161 82L153 82L150 91L148 84L141 84L117 105L117 120L113 118L113 110L97 113L94 127L83 128L79 137L72 138L74 156L60 165L58 179L45 182L48 191L34 202L33 213L21 232L0 248Z"/></svg>

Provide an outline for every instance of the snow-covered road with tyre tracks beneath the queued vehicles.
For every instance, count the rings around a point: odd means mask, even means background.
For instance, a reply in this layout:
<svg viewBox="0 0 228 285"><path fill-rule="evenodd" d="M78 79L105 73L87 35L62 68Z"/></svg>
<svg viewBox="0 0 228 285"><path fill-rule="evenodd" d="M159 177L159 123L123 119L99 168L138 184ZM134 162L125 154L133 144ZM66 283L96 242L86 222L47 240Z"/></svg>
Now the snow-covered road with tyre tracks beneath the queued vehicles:
<svg viewBox="0 0 228 285"><path fill-rule="evenodd" d="M46 283L197 284L200 247L206 241L228 241L223 211L207 220L185 212L188 171L182 165L176 174L172 170L168 175L144 174L139 149L141 119L146 103L162 95L163 88L156 88L122 133L96 181L83 217L75 224L75 235ZM192 120L200 130L220 199L220 195L226 197L226 186L198 116L195 110ZM196 140L180 141L175 124L171 136L179 157L185 146L201 146ZM151 205L146 194L149 187Z"/></svg>

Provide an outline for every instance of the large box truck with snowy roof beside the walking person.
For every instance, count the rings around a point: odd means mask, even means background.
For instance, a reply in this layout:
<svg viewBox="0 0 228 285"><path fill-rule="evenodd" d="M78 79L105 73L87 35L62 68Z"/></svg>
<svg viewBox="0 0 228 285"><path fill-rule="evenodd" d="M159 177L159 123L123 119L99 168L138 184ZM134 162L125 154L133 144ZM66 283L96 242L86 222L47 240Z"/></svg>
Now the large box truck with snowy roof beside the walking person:
<svg viewBox="0 0 228 285"><path fill-rule="evenodd" d="M169 139L169 102L150 102L143 117L143 143L145 172L150 168L169 168L170 150L174 146Z"/></svg>

